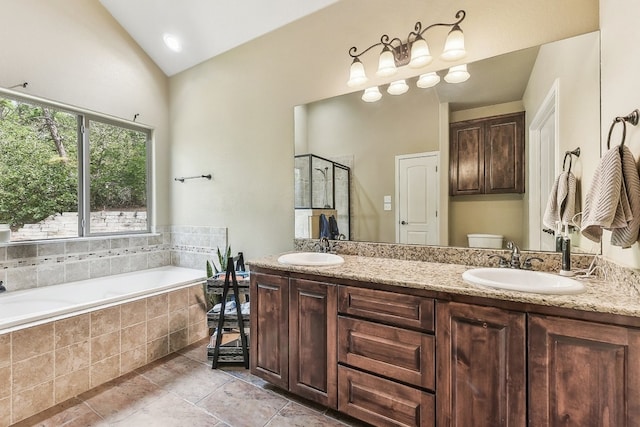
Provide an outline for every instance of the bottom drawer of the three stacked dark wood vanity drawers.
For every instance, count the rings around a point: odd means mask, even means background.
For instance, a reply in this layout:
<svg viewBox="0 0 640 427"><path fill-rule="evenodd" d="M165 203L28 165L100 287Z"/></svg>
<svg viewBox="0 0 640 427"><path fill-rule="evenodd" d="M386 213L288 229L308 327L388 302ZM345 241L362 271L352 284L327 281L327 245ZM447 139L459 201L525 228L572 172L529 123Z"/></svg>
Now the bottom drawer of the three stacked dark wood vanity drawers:
<svg viewBox="0 0 640 427"><path fill-rule="evenodd" d="M375 426L435 426L435 396L338 366L338 411Z"/></svg>

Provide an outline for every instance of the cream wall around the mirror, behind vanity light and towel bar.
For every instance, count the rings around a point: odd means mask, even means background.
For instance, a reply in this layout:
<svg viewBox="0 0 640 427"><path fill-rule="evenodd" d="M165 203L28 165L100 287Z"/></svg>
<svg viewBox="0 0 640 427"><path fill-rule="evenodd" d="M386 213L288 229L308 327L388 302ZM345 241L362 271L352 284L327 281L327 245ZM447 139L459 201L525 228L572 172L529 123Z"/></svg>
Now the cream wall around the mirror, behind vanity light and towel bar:
<svg viewBox="0 0 640 427"><path fill-rule="evenodd" d="M343 0L213 58L170 79L172 173L214 174L172 185L173 222L227 226L232 248L249 259L290 250L293 107L353 91L351 46L405 35L416 20L451 21L458 8L467 11L468 62L598 27L596 0ZM434 53L445 36L427 36ZM370 75L375 57L366 59ZM435 60L420 72L447 66Z"/></svg>

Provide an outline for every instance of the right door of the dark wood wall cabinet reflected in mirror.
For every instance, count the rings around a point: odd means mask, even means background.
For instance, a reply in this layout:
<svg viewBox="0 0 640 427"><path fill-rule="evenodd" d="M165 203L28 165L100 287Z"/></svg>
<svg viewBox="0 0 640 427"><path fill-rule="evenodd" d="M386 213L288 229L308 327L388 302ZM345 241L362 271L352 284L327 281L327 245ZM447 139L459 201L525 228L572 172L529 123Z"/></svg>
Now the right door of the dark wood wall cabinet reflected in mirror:
<svg viewBox="0 0 640 427"><path fill-rule="evenodd" d="M524 113L488 120L484 192L524 193Z"/></svg>

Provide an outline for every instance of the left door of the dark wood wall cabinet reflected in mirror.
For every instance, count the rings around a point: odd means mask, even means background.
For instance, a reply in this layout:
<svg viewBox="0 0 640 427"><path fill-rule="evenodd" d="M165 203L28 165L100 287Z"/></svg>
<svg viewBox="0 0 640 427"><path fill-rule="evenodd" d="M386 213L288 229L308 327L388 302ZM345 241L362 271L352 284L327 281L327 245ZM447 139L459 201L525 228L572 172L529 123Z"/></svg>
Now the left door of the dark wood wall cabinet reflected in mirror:
<svg viewBox="0 0 640 427"><path fill-rule="evenodd" d="M449 193L484 193L484 129L481 122L455 123L450 128Z"/></svg>

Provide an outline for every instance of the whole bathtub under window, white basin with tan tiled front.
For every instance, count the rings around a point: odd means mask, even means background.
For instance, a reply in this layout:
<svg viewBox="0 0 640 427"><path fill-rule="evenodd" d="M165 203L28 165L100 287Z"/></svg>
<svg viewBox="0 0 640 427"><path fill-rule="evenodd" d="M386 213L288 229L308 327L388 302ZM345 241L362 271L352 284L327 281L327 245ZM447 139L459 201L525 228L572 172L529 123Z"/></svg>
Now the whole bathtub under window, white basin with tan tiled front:
<svg viewBox="0 0 640 427"><path fill-rule="evenodd" d="M204 276L160 267L0 294L0 427L204 341Z"/></svg>

